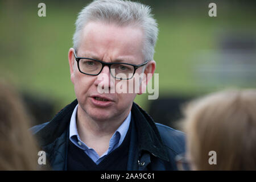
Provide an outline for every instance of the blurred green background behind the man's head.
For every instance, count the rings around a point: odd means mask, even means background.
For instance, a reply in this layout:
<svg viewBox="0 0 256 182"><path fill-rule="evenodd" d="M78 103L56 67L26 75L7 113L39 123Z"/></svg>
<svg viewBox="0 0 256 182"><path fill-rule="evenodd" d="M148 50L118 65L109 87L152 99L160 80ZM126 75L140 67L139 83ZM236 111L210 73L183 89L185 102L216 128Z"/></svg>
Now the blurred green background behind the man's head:
<svg viewBox="0 0 256 182"><path fill-rule="evenodd" d="M40 2L46 3L46 17L38 16ZM72 47L77 13L89 2L0 1L0 75L13 82L22 93L51 101L54 104L52 116L75 99L69 76L68 49ZM242 1L141 2L152 7L159 24L155 48L159 99L195 97L229 86L255 88L256 69L250 70L249 76L247 69L243 69L242 76L233 80L233 76L221 77L222 72L212 69L229 69L220 64L227 50L225 41L223 43L226 35L248 40L242 48L238 41L238 48L228 51L228 55L234 56L237 49L249 49L250 53L243 51L241 57L250 57L250 68L255 68L254 1L246 1L246 4ZM217 5L217 17L208 15L210 2ZM229 59L232 60L230 56ZM142 94L135 102L148 111L152 101L147 99L147 94Z"/></svg>

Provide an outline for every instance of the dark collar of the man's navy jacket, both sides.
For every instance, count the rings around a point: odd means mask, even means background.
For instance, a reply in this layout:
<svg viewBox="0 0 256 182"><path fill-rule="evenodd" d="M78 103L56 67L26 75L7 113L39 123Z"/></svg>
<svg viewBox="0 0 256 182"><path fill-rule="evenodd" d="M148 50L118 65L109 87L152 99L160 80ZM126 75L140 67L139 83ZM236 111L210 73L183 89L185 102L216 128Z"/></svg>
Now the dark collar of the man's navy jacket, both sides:
<svg viewBox="0 0 256 182"><path fill-rule="evenodd" d="M55 117L47 123L43 129L39 130L35 137L38 138L41 146L46 146L54 142L61 134L68 128L70 118L73 110L77 105L77 100L60 110ZM133 115L135 126L138 135L138 149L139 151L148 151L152 155L163 160L169 160L166 148L160 137L159 131L153 119L139 107L135 102L131 107L131 114Z"/></svg>

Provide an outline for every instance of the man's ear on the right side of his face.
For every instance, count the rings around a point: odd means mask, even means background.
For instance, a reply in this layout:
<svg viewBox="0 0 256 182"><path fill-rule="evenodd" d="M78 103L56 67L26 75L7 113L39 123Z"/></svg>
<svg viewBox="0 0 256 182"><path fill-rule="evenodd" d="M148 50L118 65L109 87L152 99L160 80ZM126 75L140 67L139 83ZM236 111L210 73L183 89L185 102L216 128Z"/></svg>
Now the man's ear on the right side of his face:
<svg viewBox="0 0 256 182"><path fill-rule="evenodd" d="M143 72L145 77L143 77L143 80L141 82L139 93L138 93L139 95L146 92L148 81L150 81L152 76L154 75L155 68L156 68L156 63L154 60L149 61L146 64L146 68L144 69L144 72Z"/></svg>

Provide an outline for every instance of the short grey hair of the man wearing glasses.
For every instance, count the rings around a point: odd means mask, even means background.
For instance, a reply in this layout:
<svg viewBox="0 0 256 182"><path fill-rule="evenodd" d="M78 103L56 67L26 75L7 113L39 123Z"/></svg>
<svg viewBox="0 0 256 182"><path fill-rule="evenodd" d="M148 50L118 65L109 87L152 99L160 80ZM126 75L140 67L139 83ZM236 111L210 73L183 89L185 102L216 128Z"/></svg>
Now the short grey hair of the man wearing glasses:
<svg viewBox="0 0 256 182"><path fill-rule="evenodd" d="M76 31L73 35L73 48L80 44L81 31L90 21L115 23L119 26L135 25L144 31L142 53L144 59L153 60L155 43L158 38L158 24L151 14L149 6L138 2L123 0L96 0L85 6L76 20Z"/></svg>

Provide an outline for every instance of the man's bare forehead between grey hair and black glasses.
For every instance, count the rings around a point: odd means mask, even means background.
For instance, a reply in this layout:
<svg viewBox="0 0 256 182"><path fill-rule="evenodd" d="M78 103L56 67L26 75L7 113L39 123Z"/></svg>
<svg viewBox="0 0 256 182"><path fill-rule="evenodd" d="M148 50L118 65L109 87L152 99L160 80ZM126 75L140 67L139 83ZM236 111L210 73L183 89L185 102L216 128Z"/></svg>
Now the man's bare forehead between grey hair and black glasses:
<svg viewBox="0 0 256 182"><path fill-rule="evenodd" d="M126 57L133 61L143 60L143 31L139 27L90 22L81 34L79 52L90 53L98 59Z"/></svg>

